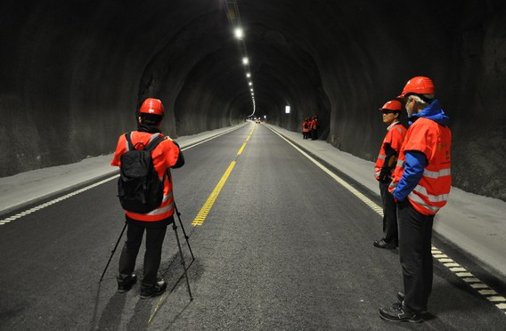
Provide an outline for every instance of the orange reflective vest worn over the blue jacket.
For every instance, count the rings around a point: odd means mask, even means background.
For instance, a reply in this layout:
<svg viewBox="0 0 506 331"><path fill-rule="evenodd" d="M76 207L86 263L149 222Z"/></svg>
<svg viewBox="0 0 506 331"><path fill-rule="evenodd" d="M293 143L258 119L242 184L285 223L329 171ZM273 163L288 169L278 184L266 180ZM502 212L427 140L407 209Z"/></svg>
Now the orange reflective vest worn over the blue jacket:
<svg viewBox="0 0 506 331"><path fill-rule="evenodd" d="M428 165L418 185L408 194L408 199L420 214L436 214L441 207L446 205L452 186L451 144L450 128L420 117L406 133L397 160L395 178L389 190L395 190L404 174L405 152L408 150L422 152L427 157Z"/></svg>

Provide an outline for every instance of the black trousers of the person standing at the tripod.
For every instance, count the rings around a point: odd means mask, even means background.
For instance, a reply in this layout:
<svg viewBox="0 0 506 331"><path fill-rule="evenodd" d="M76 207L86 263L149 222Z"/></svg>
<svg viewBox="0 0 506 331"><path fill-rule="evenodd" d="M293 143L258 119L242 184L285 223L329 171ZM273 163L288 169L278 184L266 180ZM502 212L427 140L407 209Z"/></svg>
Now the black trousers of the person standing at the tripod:
<svg viewBox="0 0 506 331"><path fill-rule="evenodd" d="M146 223L146 224L144 224ZM158 281L161 248L167 232L167 222L128 222L126 241L119 257L119 278L125 279L135 270L135 260L146 231L146 252L144 253L143 285L156 285Z"/></svg>

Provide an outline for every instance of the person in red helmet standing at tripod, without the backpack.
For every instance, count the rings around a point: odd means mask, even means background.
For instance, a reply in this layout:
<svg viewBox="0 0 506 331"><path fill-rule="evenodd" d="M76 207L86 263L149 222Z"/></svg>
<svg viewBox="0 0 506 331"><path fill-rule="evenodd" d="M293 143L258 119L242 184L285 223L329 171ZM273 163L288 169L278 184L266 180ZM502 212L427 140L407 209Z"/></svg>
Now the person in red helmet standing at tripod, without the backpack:
<svg viewBox="0 0 506 331"><path fill-rule="evenodd" d="M167 231L167 225L174 222L174 198L170 168L184 165L184 157L179 145L161 133L161 124L165 109L158 99L148 98L138 112L137 131L122 134L110 165L121 166L121 156L129 149L142 149L157 137L163 138L151 151L152 165L163 182L163 198L161 204L151 212L141 214L125 210L126 242L119 257L118 292L129 291L137 282L135 276L135 260L146 232L146 251L144 254L143 281L141 297L161 295L167 284L158 279L161 248ZM128 141L128 139L130 141ZM129 143L131 142L131 143Z"/></svg>

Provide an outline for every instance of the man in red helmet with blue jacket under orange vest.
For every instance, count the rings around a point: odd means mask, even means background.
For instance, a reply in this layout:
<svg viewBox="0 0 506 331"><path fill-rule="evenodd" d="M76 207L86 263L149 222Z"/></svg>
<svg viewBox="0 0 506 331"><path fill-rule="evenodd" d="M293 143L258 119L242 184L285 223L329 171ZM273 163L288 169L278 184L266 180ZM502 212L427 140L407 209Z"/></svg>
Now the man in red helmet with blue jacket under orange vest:
<svg viewBox="0 0 506 331"><path fill-rule="evenodd" d="M432 291L432 224L452 185L450 120L435 93L430 78L413 77L398 96L410 127L389 190L397 201L404 291L397 293L398 303L380 309L389 321L420 322Z"/></svg>

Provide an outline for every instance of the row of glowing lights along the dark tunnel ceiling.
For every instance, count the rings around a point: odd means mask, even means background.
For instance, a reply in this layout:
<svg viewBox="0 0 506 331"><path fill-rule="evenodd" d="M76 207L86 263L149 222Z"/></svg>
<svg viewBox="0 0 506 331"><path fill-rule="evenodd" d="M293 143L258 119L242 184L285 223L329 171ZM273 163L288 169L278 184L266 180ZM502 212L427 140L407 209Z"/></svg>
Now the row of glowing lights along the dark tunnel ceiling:
<svg viewBox="0 0 506 331"><path fill-rule="evenodd" d="M246 43L244 41L245 34L244 29L242 28L242 22L241 22L241 15L239 14L239 6L237 4L237 0L224 0L226 4L226 17L228 18L228 21L230 23L230 26L233 30L233 35L235 36L235 39L237 41L237 50L239 51L239 55L241 56L241 61L244 69L246 70L246 77L247 77L247 83L250 88L251 92L251 102L253 104L253 112L249 117L252 117L255 114L256 110L256 102L255 102L255 96L254 91L252 88L252 78L251 78L251 69L250 69L250 61L248 56L248 51L246 49Z"/></svg>

